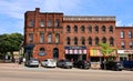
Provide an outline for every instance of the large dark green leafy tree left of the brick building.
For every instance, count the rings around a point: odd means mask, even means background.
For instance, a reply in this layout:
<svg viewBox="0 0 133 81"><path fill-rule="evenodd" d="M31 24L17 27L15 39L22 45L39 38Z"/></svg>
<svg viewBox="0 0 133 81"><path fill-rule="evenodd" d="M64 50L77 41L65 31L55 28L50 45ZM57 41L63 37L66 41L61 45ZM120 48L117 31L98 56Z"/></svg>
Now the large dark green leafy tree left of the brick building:
<svg viewBox="0 0 133 81"><path fill-rule="evenodd" d="M19 45L23 40L23 36L20 33L2 34L0 36L0 53L6 54L11 52L13 60L13 51L19 51Z"/></svg>

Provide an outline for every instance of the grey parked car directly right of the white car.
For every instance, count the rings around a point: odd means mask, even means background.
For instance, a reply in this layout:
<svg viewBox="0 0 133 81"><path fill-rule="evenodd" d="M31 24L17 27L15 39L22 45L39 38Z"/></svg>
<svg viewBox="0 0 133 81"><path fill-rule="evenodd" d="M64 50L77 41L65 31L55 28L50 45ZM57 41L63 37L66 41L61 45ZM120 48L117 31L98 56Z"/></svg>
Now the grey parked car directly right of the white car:
<svg viewBox="0 0 133 81"><path fill-rule="evenodd" d="M59 60L57 65L60 68L71 69L73 67L73 63L70 60Z"/></svg>

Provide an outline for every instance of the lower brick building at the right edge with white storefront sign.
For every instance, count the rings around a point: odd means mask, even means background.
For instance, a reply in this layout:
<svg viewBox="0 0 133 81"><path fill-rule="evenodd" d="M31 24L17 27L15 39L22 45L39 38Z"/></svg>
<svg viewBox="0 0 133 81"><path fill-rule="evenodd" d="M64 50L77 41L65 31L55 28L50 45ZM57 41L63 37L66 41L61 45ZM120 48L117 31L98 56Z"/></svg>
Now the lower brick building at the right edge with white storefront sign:
<svg viewBox="0 0 133 81"><path fill-rule="evenodd" d="M121 60L133 60L133 27L116 27L116 47Z"/></svg>

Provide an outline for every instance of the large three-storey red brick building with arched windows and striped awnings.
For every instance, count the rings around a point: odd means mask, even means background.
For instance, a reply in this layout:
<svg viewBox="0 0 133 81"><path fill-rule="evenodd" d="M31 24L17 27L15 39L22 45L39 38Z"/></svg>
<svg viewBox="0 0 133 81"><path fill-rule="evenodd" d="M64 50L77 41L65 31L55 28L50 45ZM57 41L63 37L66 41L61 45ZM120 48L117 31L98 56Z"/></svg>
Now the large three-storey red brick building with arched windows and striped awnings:
<svg viewBox="0 0 133 81"><path fill-rule="evenodd" d="M121 29L115 28L115 17L44 13L39 8L24 14L24 44L33 44L30 57L40 60L53 58L101 61L103 55L98 43L106 42L116 48L117 30ZM117 58L116 52L112 54Z"/></svg>

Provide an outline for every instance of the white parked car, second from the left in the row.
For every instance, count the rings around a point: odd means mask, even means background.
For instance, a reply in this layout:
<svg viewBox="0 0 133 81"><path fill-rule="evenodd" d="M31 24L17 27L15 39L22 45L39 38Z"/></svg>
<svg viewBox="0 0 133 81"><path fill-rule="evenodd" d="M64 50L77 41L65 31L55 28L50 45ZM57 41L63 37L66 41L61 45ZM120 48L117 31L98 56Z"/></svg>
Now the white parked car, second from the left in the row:
<svg viewBox="0 0 133 81"><path fill-rule="evenodd" d="M41 61L41 65L47 67L47 68L55 68L57 61L53 59L47 59L47 60Z"/></svg>

